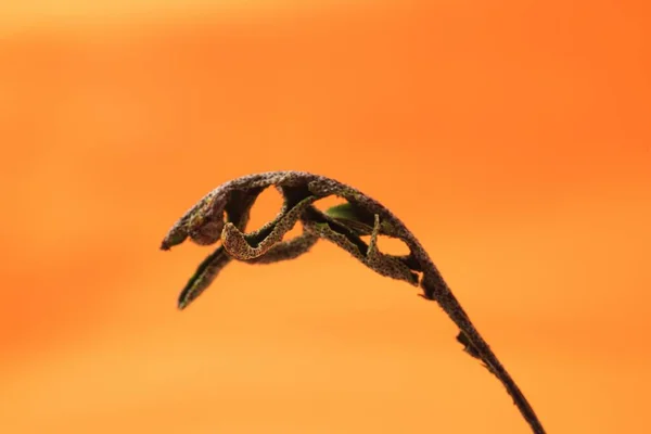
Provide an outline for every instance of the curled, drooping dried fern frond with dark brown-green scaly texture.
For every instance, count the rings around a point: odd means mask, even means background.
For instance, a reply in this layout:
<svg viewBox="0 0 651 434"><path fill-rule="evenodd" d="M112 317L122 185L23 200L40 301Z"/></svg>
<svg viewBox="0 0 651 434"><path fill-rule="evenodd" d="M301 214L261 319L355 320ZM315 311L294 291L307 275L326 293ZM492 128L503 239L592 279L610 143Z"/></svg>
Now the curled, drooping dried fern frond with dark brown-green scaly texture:
<svg viewBox="0 0 651 434"><path fill-rule="evenodd" d="M284 199L280 213L260 229L245 232L251 207L263 190L271 186ZM346 202L326 212L314 206L316 201L331 195ZM283 240L298 221L303 233ZM371 235L369 243L361 239L365 235ZM397 256L380 252L379 235L401 240L410 253ZM387 208L360 191L303 171L248 175L224 183L199 201L173 226L161 248L169 250L188 238L201 245L221 240L221 245L204 259L181 292L178 302L181 309L208 288L231 260L271 264L293 259L307 253L320 238L335 243L382 276L420 286L422 296L437 302L459 327L457 340L465 352L501 381L533 432L545 433L526 398L474 328L420 242Z"/></svg>

